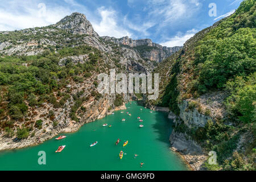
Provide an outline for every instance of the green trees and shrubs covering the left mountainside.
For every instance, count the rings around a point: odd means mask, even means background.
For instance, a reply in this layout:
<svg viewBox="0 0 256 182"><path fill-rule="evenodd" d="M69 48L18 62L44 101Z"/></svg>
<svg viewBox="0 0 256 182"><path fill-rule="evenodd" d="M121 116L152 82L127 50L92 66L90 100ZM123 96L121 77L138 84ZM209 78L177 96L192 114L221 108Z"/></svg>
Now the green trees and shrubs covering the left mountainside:
<svg viewBox="0 0 256 182"><path fill-rule="evenodd" d="M85 54L89 55L89 60L85 63L75 64L67 58ZM64 57L64 61L60 61ZM15 123L23 121L27 115L28 106L35 108L48 102L55 108L63 107L71 96L68 89L67 93L61 93L60 90L70 80L82 82L86 77L92 76L90 72L98 70L96 65L101 60L101 52L89 46L67 47L57 53L46 50L36 56L0 57L0 129L5 129L11 136ZM57 95L53 92L57 92ZM97 94L96 99L100 97ZM85 101L86 98L77 101L73 96L73 99L75 105L72 106L70 117L79 121L76 111L81 106L80 101ZM42 128L42 121L37 121L35 127ZM27 138L26 131L26 127L18 130L18 138Z"/></svg>

